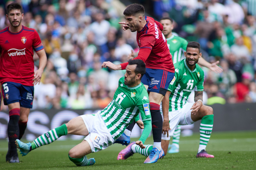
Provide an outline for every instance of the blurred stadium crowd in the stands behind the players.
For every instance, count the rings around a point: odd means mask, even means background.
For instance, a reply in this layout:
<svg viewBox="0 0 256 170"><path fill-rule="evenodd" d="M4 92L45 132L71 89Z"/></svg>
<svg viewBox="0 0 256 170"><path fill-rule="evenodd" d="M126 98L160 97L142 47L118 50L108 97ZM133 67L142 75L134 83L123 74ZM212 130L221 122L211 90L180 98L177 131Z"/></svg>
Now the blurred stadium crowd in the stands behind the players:
<svg viewBox="0 0 256 170"><path fill-rule="evenodd" d="M9 25L5 7L11 2L22 4L22 25L38 31L48 58L33 109L108 105L125 71L101 64L126 62L131 50L139 50L136 32L118 24L125 5L135 2L158 21L173 18L175 33L199 42L207 61L220 61L221 74L203 67L204 103L256 102L256 0L0 0L0 29ZM34 60L38 66L36 53ZM2 109L8 107L2 103Z"/></svg>

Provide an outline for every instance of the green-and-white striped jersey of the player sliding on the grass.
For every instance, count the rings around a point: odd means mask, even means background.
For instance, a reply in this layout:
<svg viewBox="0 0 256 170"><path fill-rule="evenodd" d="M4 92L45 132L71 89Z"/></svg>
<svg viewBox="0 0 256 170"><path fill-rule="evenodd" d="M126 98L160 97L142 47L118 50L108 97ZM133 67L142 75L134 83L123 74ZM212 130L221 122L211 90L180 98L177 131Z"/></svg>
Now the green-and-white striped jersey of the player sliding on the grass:
<svg viewBox="0 0 256 170"><path fill-rule="evenodd" d="M141 113L142 121L151 120L146 88L142 83L136 87L128 87L124 84L124 77L120 78L113 100L100 111L114 140L133 120L139 120L139 113Z"/></svg>

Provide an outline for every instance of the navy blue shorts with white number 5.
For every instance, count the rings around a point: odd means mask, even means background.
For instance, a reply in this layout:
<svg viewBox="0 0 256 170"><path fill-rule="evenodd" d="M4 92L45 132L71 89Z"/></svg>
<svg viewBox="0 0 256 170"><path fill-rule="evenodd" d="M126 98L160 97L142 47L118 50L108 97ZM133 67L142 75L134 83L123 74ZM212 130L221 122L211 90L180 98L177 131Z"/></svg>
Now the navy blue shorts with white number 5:
<svg viewBox="0 0 256 170"><path fill-rule="evenodd" d="M15 82L2 84L3 101L5 105L19 102L21 107L32 108L34 98L34 86L24 86Z"/></svg>

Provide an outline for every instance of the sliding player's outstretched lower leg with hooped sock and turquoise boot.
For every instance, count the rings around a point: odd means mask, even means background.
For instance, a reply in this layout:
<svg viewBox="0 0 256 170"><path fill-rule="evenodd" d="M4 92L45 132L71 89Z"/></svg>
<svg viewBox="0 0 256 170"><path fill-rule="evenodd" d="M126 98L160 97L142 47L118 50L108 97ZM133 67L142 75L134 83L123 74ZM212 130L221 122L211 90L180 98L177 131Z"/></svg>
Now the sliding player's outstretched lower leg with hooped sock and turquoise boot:
<svg viewBox="0 0 256 170"><path fill-rule="evenodd" d="M43 145L48 145L55 140L57 140L59 137L67 135L67 126L66 124L63 124L59 126L58 128L51 129L47 133L44 133L40 137L36 138L32 143L23 143L20 140L16 140L16 146L20 150L20 154L22 156L25 156L30 152L31 150L34 150L36 148L39 148Z"/></svg>

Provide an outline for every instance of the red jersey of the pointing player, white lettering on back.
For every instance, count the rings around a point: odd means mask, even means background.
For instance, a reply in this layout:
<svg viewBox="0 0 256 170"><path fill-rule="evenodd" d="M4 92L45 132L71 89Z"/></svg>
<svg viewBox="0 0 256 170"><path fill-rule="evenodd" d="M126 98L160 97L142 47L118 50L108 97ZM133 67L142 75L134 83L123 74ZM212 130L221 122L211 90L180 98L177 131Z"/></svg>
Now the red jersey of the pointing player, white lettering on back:
<svg viewBox="0 0 256 170"><path fill-rule="evenodd" d="M137 43L140 49L149 48L151 50L145 62L146 67L174 73L172 55L167 41L159 29L160 23L148 16L145 16L145 20L147 23L144 28L141 31L137 31ZM140 52L138 57L140 57ZM139 59L138 57L137 59Z"/></svg>

